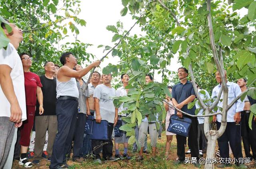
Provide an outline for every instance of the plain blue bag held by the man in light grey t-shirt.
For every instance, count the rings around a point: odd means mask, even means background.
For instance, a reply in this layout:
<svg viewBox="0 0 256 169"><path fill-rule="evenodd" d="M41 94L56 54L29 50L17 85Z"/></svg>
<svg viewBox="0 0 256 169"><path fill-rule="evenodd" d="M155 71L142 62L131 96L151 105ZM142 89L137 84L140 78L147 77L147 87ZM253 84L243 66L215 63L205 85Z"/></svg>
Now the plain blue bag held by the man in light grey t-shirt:
<svg viewBox="0 0 256 169"><path fill-rule="evenodd" d="M100 123L96 123L96 120L93 120L92 134L89 139L108 140L108 121L101 120Z"/></svg>

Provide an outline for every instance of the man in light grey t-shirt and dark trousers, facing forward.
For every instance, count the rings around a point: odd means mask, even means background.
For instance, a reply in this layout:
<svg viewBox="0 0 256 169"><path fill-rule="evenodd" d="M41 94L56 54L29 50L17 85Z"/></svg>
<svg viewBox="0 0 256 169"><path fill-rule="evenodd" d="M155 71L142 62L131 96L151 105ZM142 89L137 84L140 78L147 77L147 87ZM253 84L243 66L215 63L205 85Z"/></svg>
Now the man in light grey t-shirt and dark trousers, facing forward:
<svg viewBox="0 0 256 169"><path fill-rule="evenodd" d="M118 110L115 108L112 97L116 96L116 90L111 86L112 76L111 74L102 75L103 84L97 85L94 90L94 107L96 113L96 123L100 123L101 120L108 121L108 140L103 140L102 156L109 161L116 161L118 158L112 157L113 143L111 135L113 128L116 125L118 119ZM100 140L92 141L92 149L100 145ZM100 149L94 149L93 155L98 163L100 161Z"/></svg>

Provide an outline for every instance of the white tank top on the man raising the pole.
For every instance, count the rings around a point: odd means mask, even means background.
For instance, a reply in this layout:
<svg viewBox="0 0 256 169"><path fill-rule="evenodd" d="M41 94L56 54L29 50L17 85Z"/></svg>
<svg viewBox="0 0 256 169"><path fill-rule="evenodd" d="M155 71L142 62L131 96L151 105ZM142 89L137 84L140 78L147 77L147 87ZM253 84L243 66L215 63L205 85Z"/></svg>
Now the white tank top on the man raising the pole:
<svg viewBox="0 0 256 169"><path fill-rule="evenodd" d="M79 97L78 88L76 85L76 78L71 78L68 82L59 82L58 78L56 78L57 85L57 99L60 96L71 96L71 97Z"/></svg>

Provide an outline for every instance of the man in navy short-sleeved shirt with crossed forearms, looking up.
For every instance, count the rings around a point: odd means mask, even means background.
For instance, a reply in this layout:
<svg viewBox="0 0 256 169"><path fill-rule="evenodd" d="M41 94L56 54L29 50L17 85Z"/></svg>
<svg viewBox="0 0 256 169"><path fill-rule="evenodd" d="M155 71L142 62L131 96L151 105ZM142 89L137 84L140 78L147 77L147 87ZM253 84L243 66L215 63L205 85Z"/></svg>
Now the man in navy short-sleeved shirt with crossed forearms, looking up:
<svg viewBox="0 0 256 169"><path fill-rule="evenodd" d="M172 87L172 104L175 105L178 109L189 113L191 115L195 115L196 106L192 107L192 109L188 109L188 103L194 101L196 98L196 93L194 91L192 83L187 80L188 70L186 68L178 69L178 77L180 79L180 83L174 85ZM183 117L183 114L180 111L175 110L175 114L177 114L180 118ZM186 116L186 115L185 115ZM198 142L197 142L197 134L198 134L198 121L196 117L189 117L192 120L191 127L188 133L188 141L191 149L191 157L195 157L198 160L199 150L198 150ZM176 135L177 139L177 155L179 157L178 161L175 164L184 163L185 160L185 147L184 141L186 137L181 135ZM199 163L195 163L196 167L200 167Z"/></svg>

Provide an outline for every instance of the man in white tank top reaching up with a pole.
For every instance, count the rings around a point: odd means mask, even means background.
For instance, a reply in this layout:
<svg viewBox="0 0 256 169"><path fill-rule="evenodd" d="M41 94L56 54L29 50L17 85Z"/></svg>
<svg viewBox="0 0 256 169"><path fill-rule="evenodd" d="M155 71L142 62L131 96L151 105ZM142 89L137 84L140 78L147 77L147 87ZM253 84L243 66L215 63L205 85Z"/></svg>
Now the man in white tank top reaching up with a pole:
<svg viewBox="0 0 256 169"><path fill-rule="evenodd" d="M92 68L100 65L100 61L96 61L79 71L73 70L77 60L70 52L62 54L60 62L63 66L56 76L58 133L54 140L50 169L68 167L66 153L74 136L76 113L78 111L79 93L76 86L76 78L82 78Z"/></svg>

